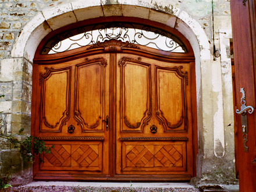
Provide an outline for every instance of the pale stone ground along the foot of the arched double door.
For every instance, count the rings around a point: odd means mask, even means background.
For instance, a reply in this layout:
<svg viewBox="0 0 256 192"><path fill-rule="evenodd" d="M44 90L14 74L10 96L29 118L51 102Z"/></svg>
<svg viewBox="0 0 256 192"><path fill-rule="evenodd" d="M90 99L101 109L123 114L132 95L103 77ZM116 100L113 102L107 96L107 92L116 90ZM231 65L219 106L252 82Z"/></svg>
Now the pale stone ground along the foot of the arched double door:
<svg viewBox="0 0 256 192"><path fill-rule="evenodd" d="M226 188L226 187L225 187ZM230 192L238 186L229 186ZM233 189L233 190L232 190ZM200 192L189 183L33 182L0 192Z"/></svg>

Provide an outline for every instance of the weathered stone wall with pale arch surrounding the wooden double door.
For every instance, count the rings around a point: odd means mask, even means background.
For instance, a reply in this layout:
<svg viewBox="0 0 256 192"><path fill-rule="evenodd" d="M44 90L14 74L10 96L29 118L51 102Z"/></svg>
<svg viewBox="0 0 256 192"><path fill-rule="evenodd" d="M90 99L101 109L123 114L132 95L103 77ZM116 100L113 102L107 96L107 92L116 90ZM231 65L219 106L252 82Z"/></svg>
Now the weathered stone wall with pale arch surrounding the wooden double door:
<svg viewBox="0 0 256 192"><path fill-rule="evenodd" d="M194 180L236 181L229 0L215 0L213 5L214 23L210 0L0 0L0 94L5 94L0 103L4 119L1 131L15 134L24 127L25 134L30 134L33 56L45 35L84 19L135 15L176 27L194 49L198 116ZM221 51L221 57L215 60L213 24L216 48ZM17 152L5 141L1 142L1 176L13 176L16 183L31 180L31 168L16 158ZM9 169L11 164L15 168Z"/></svg>

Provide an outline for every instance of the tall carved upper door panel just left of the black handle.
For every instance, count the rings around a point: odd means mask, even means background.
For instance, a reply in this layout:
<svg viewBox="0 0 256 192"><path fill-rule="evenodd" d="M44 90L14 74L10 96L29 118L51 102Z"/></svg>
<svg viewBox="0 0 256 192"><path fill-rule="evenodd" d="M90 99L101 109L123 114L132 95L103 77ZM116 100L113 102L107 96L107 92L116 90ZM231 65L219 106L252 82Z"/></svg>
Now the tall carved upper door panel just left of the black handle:
<svg viewBox="0 0 256 192"><path fill-rule="evenodd" d="M74 117L84 132L104 131L102 119L105 112L105 59L93 59L91 62L76 65L76 103Z"/></svg>

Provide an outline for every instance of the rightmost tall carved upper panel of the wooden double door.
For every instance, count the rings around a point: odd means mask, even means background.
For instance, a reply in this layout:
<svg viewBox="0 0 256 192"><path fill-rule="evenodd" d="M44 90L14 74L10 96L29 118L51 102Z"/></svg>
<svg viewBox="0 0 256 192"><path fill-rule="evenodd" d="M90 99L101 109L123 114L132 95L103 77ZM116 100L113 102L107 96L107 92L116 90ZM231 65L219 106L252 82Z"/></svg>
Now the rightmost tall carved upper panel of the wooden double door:
<svg viewBox="0 0 256 192"><path fill-rule="evenodd" d="M165 127L165 131L185 130L187 74L182 74L182 66L172 68L156 67L157 79L157 117Z"/></svg>

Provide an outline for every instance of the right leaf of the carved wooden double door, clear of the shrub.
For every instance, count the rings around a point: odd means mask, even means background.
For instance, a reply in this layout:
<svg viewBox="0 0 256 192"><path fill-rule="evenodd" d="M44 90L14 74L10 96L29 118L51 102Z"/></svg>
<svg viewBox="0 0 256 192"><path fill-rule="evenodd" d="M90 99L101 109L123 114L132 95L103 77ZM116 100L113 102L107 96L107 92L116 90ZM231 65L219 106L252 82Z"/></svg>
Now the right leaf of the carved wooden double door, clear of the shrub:
<svg viewBox="0 0 256 192"><path fill-rule="evenodd" d="M190 179L190 63L128 54L116 60L116 177Z"/></svg>

